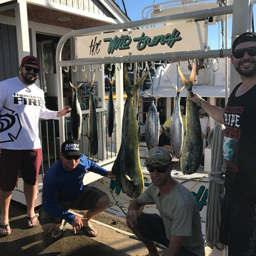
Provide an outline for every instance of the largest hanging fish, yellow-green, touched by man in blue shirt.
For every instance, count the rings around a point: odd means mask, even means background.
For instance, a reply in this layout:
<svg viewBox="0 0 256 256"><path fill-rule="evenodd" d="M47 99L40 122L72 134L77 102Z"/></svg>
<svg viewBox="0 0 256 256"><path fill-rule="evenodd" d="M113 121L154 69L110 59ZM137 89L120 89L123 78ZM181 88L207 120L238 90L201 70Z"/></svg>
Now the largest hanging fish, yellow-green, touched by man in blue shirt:
<svg viewBox="0 0 256 256"><path fill-rule="evenodd" d="M121 147L112 167L112 172L116 175L116 179L125 194L131 198L137 198L144 189L139 158L140 138L133 96L147 77L148 72L149 70L137 84L131 86L127 67L124 65L124 82L127 99L124 105Z"/></svg>

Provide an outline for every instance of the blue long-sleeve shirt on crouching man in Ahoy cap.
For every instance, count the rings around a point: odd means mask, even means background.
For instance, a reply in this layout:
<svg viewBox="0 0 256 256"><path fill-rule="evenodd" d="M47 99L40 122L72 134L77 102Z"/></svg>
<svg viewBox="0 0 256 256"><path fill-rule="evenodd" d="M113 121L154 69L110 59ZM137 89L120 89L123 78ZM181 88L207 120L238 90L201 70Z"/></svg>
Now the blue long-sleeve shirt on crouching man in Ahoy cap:
<svg viewBox="0 0 256 256"><path fill-rule="evenodd" d="M76 216L63 209L57 202L73 201L82 194L83 178L87 170L105 177L108 174L106 169L87 159L85 155L80 158L79 164L73 171L66 171L61 159L52 165L44 176L43 209L71 224Z"/></svg>

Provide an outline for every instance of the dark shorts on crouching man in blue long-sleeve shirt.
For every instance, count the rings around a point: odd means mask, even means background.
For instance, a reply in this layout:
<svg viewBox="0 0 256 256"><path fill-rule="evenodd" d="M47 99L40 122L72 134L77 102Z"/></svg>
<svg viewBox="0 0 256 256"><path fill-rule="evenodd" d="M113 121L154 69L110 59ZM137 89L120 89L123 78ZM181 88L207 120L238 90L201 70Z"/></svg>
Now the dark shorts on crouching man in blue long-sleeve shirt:
<svg viewBox="0 0 256 256"><path fill-rule="evenodd" d="M83 193L77 199L69 202L59 201L57 202L57 204L63 207L63 209L65 209L66 211L68 211L69 209L91 210L95 208L100 197L105 195L107 194L98 188L84 186ZM39 221L41 225L49 223L59 224L61 223L62 219L50 215L43 209L42 206L39 210Z"/></svg>

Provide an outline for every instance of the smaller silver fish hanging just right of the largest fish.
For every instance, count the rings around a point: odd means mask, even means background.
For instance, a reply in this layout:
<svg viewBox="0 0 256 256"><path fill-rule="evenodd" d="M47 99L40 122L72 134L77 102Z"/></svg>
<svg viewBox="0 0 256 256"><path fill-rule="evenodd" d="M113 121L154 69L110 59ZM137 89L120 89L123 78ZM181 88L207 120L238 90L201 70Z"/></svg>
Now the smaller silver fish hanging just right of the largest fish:
<svg viewBox="0 0 256 256"><path fill-rule="evenodd" d="M147 92L146 92L147 93ZM151 105L148 110L148 114L146 117L145 123L145 138L147 143L148 150L157 147L158 139L159 139L159 116L156 110L156 106L154 103L154 99L159 98L154 97L151 94L147 93L148 96L151 98Z"/></svg>

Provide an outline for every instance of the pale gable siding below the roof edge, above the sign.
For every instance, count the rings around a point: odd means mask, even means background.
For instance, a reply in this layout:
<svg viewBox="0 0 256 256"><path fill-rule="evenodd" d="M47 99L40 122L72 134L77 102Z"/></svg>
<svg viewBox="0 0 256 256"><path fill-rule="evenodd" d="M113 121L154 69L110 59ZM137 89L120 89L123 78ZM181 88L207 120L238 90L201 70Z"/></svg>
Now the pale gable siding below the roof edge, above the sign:
<svg viewBox="0 0 256 256"><path fill-rule="evenodd" d="M52 3L62 4L83 10L86 12L92 12L99 15L106 15L107 17L114 18L114 16L106 10L98 0L47 0Z"/></svg>

